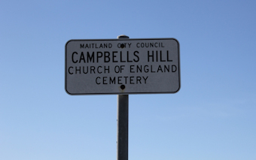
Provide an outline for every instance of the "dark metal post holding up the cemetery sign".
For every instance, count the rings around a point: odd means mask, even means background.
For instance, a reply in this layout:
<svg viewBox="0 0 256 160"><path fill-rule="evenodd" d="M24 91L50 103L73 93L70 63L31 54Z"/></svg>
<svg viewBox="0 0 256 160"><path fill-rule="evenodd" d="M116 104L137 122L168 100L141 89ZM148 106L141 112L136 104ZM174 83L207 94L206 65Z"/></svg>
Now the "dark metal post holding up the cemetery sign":
<svg viewBox="0 0 256 160"><path fill-rule="evenodd" d="M117 39L129 38L119 35ZM129 95L117 95L117 160L128 160Z"/></svg>

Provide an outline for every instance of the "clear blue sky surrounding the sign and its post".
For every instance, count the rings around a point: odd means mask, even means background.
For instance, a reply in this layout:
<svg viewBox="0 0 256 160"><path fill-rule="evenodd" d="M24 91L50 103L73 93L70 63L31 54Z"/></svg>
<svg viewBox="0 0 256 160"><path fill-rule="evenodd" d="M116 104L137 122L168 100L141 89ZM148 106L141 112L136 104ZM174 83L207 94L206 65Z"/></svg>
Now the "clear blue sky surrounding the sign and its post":
<svg viewBox="0 0 256 160"><path fill-rule="evenodd" d="M256 159L256 1L0 2L0 159L113 160L117 95L68 95L70 39L176 38L181 89L130 95L129 158Z"/></svg>

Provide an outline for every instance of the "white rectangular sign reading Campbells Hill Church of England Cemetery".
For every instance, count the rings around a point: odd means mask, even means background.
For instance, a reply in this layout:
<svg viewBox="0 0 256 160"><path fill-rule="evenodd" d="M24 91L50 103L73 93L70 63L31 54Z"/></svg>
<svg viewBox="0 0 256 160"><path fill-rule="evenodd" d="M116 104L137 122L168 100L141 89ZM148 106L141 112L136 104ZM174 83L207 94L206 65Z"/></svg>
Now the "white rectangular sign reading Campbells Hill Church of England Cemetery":
<svg viewBox="0 0 256 160"><path fill-rule="evenodd" d="M181 86L174 38L70 40L65 59L70 95L175 93Z"/></svg>

